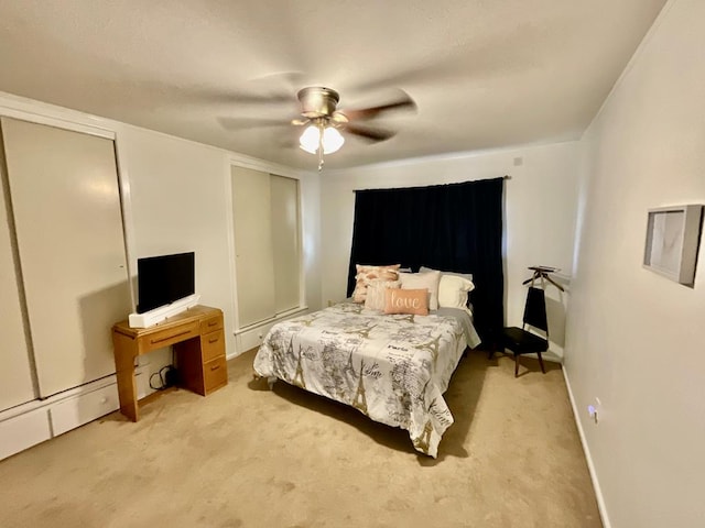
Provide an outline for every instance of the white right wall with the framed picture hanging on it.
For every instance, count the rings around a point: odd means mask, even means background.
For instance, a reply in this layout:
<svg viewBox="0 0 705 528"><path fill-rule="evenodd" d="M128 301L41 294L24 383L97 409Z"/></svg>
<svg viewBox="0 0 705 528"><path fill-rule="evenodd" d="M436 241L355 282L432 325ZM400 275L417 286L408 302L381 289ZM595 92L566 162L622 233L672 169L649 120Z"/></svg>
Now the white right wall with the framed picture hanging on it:
<svg viewBox="0 0 705 528"><path fill-rule="evenodd" d="M565 369L615 528L705 526L705 251L694 288L641 265L649 208L705 204L704 50L705 2L669 2L581 142Z"/></svg>

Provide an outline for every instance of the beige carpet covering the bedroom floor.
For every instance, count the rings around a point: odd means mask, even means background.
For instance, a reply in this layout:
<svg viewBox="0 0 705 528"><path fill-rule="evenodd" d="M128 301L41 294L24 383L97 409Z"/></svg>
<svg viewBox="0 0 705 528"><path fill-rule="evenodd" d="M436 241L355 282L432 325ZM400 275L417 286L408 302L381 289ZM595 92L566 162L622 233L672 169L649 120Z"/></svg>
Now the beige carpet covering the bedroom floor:
<svg viewBox="0 0 705 528"><path fill-rule="evenodd" d="M405 431L279 382L185 391L0 462L10 527L599 527L560 366L473 352L433 460ZM520 371L523 372L523 371Z"/></svg>

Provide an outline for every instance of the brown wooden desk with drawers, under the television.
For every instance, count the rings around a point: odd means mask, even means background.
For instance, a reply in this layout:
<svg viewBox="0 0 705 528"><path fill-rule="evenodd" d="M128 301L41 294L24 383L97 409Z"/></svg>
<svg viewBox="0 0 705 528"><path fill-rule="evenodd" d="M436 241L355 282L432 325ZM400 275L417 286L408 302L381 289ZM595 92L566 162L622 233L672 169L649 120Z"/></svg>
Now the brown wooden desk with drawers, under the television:
<svg viewBox="0 0 705 528"><path fill-rule="evenodd" d="M134 381L138 355L173 345L180 386L207 396L228 384L223 311L194 306L149 328L130 328L128 321L112 327L120 411L140 419Z"/></svg>

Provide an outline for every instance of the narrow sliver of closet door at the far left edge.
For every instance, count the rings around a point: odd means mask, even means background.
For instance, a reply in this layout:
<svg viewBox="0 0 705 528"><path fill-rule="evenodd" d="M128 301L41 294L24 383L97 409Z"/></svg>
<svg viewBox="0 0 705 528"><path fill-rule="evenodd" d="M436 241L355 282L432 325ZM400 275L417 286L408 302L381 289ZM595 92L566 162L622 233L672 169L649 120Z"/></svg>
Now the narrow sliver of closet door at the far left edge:
<svg viewBox="0 0 705 528"><path fill-rule="evenodd" d="M0 172L2 167L0 165ZM2 367L0 367L0 410L34 399L30 351L24 337L20 290L15 277L12 217L9 215L7 179L0 178L0 321Z"/></svg>

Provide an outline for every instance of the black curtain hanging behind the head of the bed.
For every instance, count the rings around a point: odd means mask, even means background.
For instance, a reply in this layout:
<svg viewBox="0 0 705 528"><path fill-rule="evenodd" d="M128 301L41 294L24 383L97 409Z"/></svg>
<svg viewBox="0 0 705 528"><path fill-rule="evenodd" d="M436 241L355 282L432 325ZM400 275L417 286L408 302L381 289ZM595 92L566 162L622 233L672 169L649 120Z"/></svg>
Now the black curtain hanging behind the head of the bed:
<svg viewBox="0 0 705 528"><path fill-rule="evenodd" d="M486 343L503 327L503 178L358 190L348 273L356 264L401 264L471 273L475 326Z"/></svg>

